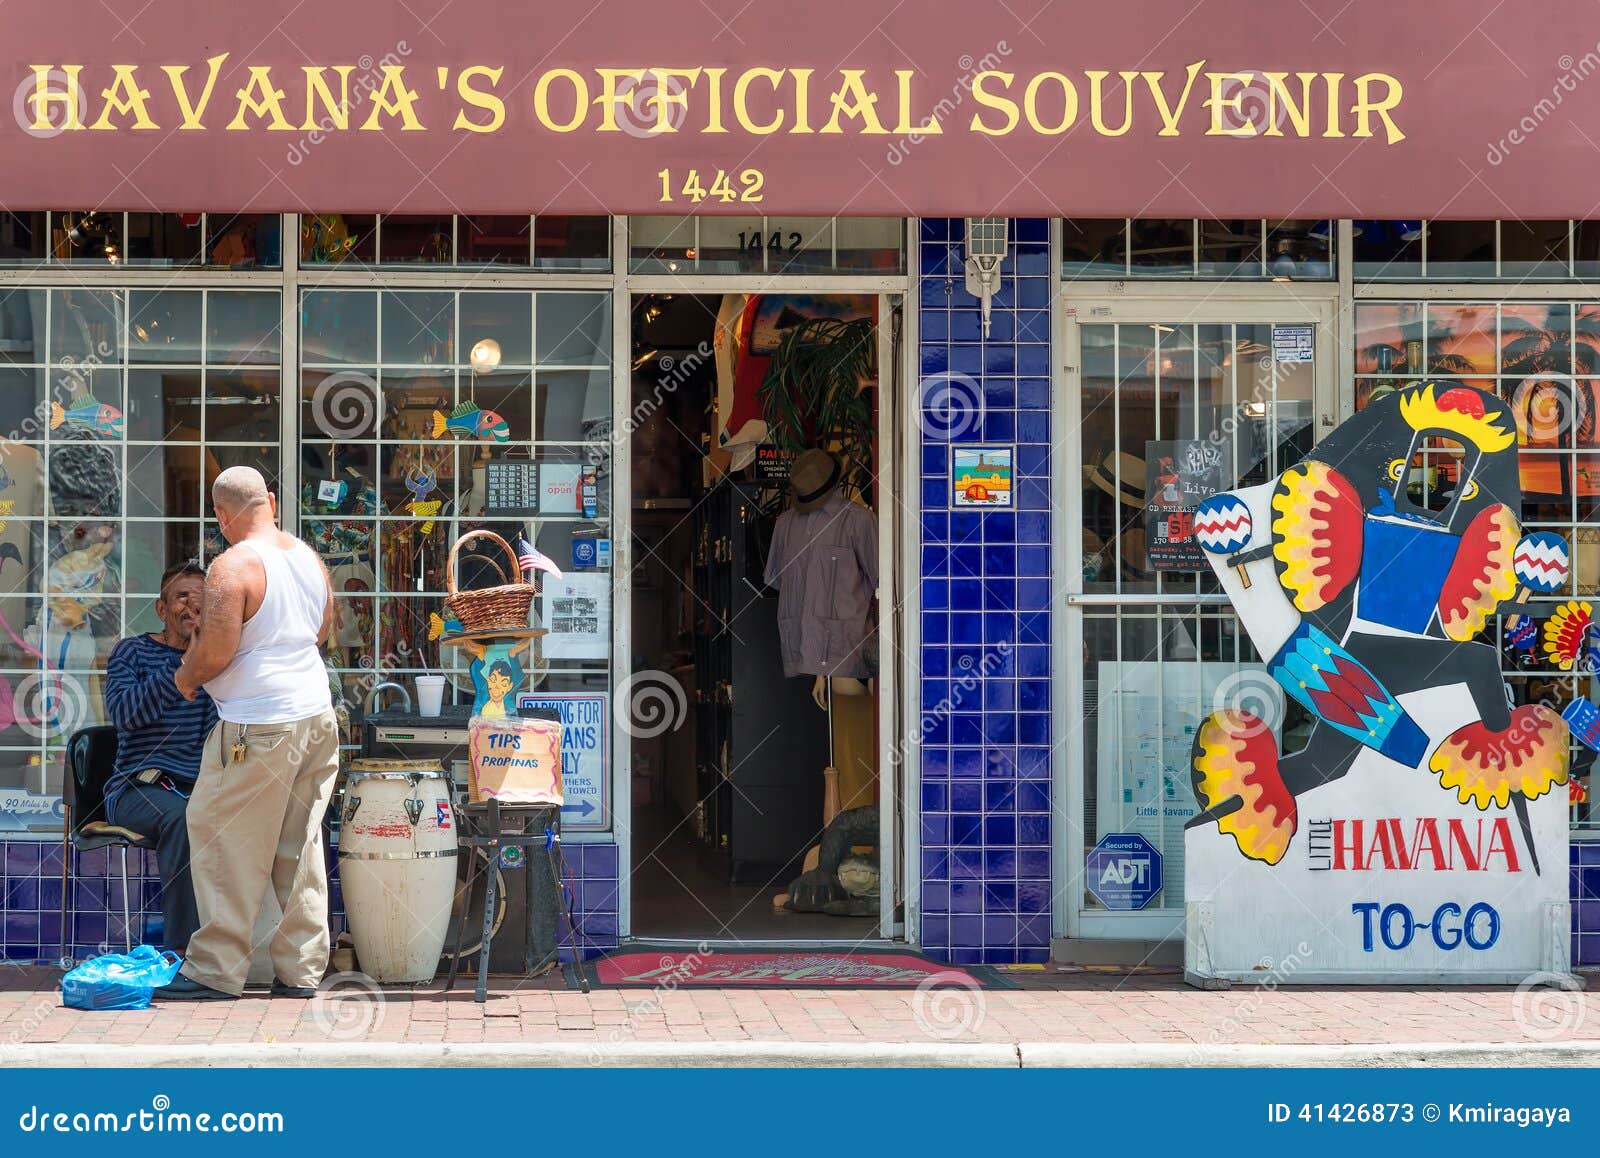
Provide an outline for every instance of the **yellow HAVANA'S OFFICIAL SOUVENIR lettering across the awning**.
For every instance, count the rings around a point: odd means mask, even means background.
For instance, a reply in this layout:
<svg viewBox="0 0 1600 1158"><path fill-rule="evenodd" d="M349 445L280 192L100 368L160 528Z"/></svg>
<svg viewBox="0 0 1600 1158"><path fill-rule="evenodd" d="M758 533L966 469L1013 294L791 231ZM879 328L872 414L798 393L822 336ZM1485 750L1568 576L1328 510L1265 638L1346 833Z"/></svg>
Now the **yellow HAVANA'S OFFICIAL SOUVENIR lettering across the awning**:
<svg viewBox="0 0 1600 1158"><path fill-rule="evenodd" d="M352 115L355 64L205 61L86 66L29 61L14 78L35 130L498 133L528 115L550 133L858 134L944 133L1150 138L1376 138L1405 141L1400 78L1387 72L1234 69L1192 61L1182 72L1000 69L970 78L973 112L944 115L938 85L917 69L666 67L522 72L379 62ZM222 77L229 80L222 80ZM238 80L234 80L234 78ZM357 77L360 82L362 78Z"/></svg>

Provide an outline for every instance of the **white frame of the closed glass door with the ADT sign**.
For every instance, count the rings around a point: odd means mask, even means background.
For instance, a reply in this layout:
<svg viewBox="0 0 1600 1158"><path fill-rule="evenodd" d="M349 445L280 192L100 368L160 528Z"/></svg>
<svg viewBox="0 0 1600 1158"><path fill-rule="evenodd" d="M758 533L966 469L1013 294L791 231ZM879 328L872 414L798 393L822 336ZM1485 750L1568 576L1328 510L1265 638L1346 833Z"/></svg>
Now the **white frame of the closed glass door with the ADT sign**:
<svg viewBox="0 0 1600 1158"><path fill-rule="evenodd" d="M1054 617L1053 649L1059 662L1053 688L1058 720L1070 721L1058 739L1059 758L1051 771L1054 813L1054 900L1051 932L1056 937L1107 937L1125 940L1173 940L1182 936L1181 908L1144 912L1088 910L1083 905L1083 613L1090 606L1205 606L1226 605L1226 595L1098 595L1083 593L1082 525L1082 357L1083 325L1270 325L1317 326L1314 352L1314 440L1338 424L1338 361L1344 347L1339 291L1333 283L1315 285L1139 285L1077 283L1062 286L1054 310L1056 398L1053 507L1058 512L1053 542L1054 573L1061 576L1062 614Z"/></svg>

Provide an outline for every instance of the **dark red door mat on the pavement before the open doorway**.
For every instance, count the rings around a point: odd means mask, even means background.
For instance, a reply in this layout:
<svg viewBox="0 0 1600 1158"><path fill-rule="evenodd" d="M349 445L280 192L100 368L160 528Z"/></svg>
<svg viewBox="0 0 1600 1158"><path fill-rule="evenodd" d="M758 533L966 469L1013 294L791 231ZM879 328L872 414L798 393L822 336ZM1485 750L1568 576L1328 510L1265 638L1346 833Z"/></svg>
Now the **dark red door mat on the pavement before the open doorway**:
<svg viewBox="0 0 1600 1158"><path fill-rule="evenodd" d="M1016 988L979 964L941 964L904 948L626 948L586 961L603 988ZM576 987L568 969L568 987Z"/></svg>

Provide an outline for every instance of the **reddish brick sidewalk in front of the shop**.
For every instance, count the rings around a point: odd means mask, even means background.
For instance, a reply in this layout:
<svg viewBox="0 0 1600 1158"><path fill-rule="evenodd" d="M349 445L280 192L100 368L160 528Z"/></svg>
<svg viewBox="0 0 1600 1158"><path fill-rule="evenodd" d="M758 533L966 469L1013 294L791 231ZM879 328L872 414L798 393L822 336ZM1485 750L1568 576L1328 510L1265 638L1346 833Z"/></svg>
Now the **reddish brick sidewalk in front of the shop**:
<svg viewBox="0 0 1600 1158"><path fill-rule="evenodd" d="M1206 993L1173 974L1016 972L1014 990L570 992L555 977L498 979L485 1006L462 988L381 998L168 1003L139 1012L61 1006L58 974L0 969L6 1046L245 1043L1093 1043L1381 1044L1600 1040L1600 993L1510 988L1282 987Z"/></svg>

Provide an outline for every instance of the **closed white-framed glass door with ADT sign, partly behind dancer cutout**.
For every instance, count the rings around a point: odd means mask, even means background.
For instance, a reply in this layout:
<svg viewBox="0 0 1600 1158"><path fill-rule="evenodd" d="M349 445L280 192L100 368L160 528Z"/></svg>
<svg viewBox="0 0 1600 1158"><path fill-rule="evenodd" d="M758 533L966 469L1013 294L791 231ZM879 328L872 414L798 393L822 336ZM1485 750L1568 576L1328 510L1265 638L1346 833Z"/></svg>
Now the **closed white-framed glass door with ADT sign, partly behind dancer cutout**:
<svg viewBox="0 0 1600 1158"><path fill-rule="evenodd" d="M1166 939L1182 929L1195 728L1222 705L1250 707L1291 745L1306 726L1264 673L1189 517L1206 494L1277 477L1331 429L1334 304L1190 294L1062 312L1058 696L1075 723L1058 761L1058 932ZM1160 854L1136 880L1093 854L1107 838L1128 848L1128 833Z"/></svg>

